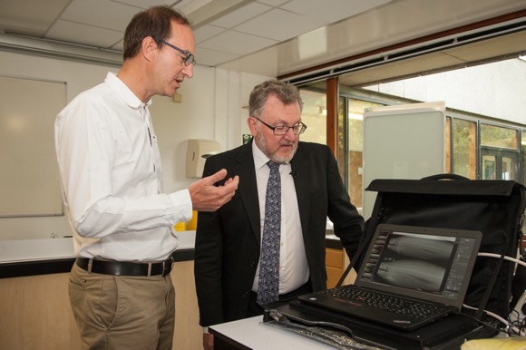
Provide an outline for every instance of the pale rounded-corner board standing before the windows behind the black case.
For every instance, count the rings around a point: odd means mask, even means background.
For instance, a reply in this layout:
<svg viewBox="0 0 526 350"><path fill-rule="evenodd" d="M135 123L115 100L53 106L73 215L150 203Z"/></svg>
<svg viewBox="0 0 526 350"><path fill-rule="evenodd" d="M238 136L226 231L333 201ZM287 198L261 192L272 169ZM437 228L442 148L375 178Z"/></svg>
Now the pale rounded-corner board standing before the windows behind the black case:
<svg viewBox="0 0 526 350"><path fill-rule="evenodd" d="M364 112L363 215L369 219L375 179L422 179L445 171L445 103L366 108Z"/></svg>

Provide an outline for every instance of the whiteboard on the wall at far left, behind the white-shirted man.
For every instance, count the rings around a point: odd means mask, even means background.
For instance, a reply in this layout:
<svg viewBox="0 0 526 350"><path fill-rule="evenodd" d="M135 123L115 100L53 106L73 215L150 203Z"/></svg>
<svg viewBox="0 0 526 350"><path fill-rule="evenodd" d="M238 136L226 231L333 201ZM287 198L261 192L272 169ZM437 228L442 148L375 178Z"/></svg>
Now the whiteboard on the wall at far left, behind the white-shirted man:
<svg viewBox="0 0 526 350"><path fill-rule="evenodd" d="M54 119L66 84L0 76L0 217L63 215Z"/></svg>

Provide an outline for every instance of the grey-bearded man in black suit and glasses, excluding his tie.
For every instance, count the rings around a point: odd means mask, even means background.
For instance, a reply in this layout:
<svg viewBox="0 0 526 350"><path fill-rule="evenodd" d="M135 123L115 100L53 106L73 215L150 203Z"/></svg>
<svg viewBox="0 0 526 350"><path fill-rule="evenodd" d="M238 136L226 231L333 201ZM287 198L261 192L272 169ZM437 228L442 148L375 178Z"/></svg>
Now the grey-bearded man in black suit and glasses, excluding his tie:
<svg viewBox="0 0 526 350"><path fill-rule="evenodd" d="M281 185L278 299L326 289L327 217L349 257L356 252L364 219L350 202L330 149L299 142L307 128L301 110L295 86L259 84L249 98L253 140L206 161L203 176L226 169L227 178L239 176L239 187L229 203L198 216L195 280L205 349L213 345L206 326L263 314L258 283L268 160L279 164Z"/></svg>

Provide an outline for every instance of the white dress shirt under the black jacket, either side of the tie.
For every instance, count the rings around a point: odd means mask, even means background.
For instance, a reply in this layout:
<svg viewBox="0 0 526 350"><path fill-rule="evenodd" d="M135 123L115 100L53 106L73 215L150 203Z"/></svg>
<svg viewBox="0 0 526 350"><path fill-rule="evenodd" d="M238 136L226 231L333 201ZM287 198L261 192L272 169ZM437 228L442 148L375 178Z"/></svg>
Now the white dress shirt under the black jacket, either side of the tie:
<svg viewBox="0 0 526 350"><path fill-rule="evenodd" d="M259 217L261 219L261 238L263 237L263 224L265 222L265 198L267 195L268 157L258 149L256 142L252 142L252 153L256 167L256 180L258 181ZM297 207L296 187L294 178L290 174L290 164L281 164L281 242L279 249L279 294L291 292L304 285L309 275L301 220ZM254 278L252 290L258 292L259 264Z"/></svg>

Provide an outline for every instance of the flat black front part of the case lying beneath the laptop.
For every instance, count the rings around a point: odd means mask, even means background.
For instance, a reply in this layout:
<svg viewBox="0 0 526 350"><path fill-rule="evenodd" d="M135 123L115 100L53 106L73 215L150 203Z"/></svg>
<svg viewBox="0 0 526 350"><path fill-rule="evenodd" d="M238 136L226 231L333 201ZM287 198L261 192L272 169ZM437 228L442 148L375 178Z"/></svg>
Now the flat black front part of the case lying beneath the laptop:
<svg viewBox="0 0 526 350"><path fill-rule="evenodd" d="M453 314L406 332L310 306L297 298L269 305L263 322L338 349L363 349L371 345L390 350L453 350L460 349L467 339L496 334L463 314Z"/></svg>

